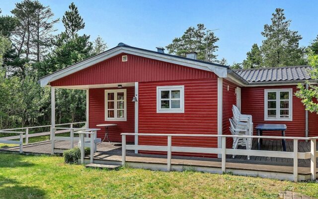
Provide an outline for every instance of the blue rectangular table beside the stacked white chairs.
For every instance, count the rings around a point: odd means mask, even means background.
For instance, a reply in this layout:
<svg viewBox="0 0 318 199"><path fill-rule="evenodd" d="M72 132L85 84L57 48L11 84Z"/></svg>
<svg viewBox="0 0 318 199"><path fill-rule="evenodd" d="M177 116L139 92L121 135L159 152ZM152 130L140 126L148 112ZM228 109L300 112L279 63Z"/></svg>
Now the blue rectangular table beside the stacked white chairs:
<svg viewBox="0 0 318 199"><path fill-rule="evenodd" d="M263 131L281 131L282 137L285 137L285 130L287 129L286 124L258 124L255 128L257 130L257 136L262 136ZM282 139L283 150L286 151L286 141ZM260 150L260 145L263 144L263 139L257 139L258 150Z"/></svg>

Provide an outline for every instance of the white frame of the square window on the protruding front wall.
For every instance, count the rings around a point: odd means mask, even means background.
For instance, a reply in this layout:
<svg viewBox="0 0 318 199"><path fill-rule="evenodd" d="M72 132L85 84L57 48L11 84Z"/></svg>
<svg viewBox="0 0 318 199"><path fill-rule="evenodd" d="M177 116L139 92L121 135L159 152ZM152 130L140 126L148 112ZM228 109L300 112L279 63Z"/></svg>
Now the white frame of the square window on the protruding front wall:
<svg viewBox="0 0 318 199"><path fill-rule="evenodd" d="M171 108L171 91L179 90L180 91L180 108ZM161 91L169 91L169 107L170 108L161 108ZM184 113L184 86L161 86L157 87L157 113Z"/></svg>

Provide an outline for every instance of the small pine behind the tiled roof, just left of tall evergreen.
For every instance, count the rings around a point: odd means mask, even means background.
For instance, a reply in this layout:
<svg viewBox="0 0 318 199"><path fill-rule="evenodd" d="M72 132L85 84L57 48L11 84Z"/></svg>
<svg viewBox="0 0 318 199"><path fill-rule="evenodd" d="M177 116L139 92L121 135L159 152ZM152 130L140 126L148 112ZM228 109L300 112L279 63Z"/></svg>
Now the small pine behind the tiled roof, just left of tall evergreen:
<svg viewBox="0 0 318 199"><path fill-rule="evenodd" d="M263 58L257 44L253 44L252 49L246 53L247 57L243 61L243 68L259 68L263 65Z"/></svg>

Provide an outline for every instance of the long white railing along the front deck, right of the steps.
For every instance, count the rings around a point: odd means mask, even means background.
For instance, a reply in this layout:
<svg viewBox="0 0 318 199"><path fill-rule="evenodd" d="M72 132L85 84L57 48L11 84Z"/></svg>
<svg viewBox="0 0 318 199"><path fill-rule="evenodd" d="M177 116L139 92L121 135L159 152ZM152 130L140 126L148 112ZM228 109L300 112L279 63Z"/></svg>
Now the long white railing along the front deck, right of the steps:
<svg viewBox="0 0 318 199"><path fill-rule="evenodd" d="M207 154L221 154L221 171L226 172L226 155L245 155L245 156L262 156L262 157L276 157L276 158L292 158L294 159L293 176L294 181L298 181L298 159L311 160L311 179L316 180L316 158L318 151L316 151L316 143L318 137L278 137L278 136L247 136L247 135L203 135L203 134L153 134L153 133L121 133L122 135L122 165L126 164L126 150L145 150L145 151L163 151L167 152L167 171L171 170L171 152L186 152L186 153L207 153ZM164 136L167 137L167 146L154 145L127 145L126 136ZM221 148L206 148L206 147L184 147L172 146L172 137L221 137ZM293 152L286 151L258 151L246 149L229 149L226 148L226 138L245 137L256 139L290 139L294 142ZM298 140L310 140L310 152L298 152Z"/></svg>

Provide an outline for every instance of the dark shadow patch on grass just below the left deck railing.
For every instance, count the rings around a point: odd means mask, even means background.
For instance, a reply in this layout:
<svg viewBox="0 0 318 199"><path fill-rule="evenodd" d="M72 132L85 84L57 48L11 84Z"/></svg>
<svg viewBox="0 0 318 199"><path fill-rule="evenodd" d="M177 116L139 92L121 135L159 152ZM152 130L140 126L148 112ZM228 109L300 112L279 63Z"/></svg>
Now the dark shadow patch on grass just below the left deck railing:
<svg viewBox="0 0 318 199"><path fill-rule="evenodd" d="M34 163L23 160L24 155L1 154L0 168L31 167Z"/></svg>

